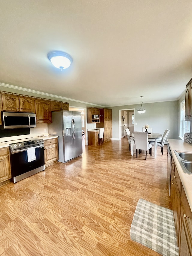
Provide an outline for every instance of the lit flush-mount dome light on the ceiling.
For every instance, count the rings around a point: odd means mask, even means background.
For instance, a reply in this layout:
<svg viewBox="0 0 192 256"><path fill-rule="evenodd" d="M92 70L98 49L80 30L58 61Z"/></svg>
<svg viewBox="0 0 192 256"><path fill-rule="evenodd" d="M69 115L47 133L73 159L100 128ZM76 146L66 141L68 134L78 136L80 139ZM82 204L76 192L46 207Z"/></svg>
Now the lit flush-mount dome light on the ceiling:
<svg viewBox="0 0 192 256"><path fill-rule="evenodd" d="M68 53L61 51L53 51L47 54L48 59L56 68L60 68L61 71L68 68L73 62L72 57Z"/></svg>

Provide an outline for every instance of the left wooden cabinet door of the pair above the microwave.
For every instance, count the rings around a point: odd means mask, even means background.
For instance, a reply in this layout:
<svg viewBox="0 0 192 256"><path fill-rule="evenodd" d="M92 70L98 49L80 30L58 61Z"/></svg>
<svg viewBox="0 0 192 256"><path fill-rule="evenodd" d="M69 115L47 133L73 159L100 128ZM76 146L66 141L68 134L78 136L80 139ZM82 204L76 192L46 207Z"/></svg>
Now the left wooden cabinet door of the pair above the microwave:
<svg viewBox="0 0 192 256"><path fill-rule="evenodd" d="M2 95L3 110L17 112L20 111L19 97L15 95Z"/></svg>

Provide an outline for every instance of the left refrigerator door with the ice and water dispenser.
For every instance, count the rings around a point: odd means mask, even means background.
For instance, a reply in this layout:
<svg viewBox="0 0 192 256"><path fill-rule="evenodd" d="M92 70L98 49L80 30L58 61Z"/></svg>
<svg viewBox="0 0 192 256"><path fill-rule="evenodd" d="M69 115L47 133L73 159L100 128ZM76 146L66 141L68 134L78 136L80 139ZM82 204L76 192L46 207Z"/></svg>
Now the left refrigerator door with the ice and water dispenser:
<svg viewBox="0 0 192 256"><path fill-rule="evenodd" d="M64 161L73 159L74 156L74 143L73 143L73 111L63 111L63 146L64 146Z"/></svg>

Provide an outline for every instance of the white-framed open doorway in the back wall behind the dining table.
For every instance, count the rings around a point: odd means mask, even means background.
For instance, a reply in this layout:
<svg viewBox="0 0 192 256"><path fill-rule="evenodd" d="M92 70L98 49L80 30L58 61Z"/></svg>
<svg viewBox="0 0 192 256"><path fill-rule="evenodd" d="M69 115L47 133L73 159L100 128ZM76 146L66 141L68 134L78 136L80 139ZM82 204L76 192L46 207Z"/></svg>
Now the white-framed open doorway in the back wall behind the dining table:
<svg viewBox="0 0 192 256"><path fill-rule="evenodd" d="M135 130L135 109L119 110L119 140L126 136L126 128L128 128L131 133Z"/></svg>

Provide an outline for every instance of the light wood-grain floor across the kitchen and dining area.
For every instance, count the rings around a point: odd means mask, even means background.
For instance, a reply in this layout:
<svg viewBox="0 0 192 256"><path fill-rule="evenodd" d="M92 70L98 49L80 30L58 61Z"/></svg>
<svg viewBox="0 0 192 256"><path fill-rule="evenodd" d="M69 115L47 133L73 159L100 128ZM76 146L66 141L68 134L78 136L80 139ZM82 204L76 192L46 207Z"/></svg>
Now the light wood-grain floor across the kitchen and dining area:
<svg viewBox="0 0 192 256"><path fill-rule="evenodd" d="M127 137L84 146L66 164L1 187L0 255L160 255L132 241L130 227L140 198L172 208L167 146L147 160L128 148Z"/></svg>

